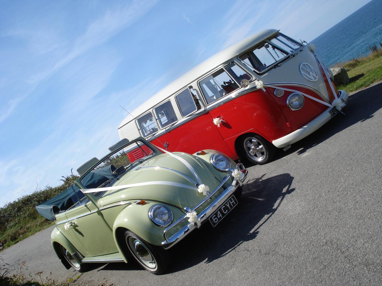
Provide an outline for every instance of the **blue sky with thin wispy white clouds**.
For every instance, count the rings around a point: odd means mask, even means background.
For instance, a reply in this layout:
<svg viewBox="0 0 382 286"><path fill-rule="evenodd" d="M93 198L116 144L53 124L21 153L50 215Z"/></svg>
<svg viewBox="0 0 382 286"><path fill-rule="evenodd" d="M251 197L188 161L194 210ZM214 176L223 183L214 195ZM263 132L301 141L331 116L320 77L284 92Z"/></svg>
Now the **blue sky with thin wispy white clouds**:
<svg viewBox="0 0 382 286"><path fill-rule="evenodd" d="M309 42L367 2L0 1L0 206L104 155L119 104L257 31Z"/></svg>

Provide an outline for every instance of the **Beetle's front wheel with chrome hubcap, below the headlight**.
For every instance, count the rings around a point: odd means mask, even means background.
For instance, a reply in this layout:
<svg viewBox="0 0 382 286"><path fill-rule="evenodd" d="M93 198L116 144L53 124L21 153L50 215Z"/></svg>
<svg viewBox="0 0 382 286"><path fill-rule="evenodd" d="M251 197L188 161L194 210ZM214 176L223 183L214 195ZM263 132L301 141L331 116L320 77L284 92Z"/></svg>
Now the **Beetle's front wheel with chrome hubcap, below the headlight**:
<svg viewBox="0 0 382 286"><path fill-rule="evenodd" d="M125 241L135 260L147 271L160 275L167 270L170 259L163 247L152 245L129 230L125 231Z"/></svg>

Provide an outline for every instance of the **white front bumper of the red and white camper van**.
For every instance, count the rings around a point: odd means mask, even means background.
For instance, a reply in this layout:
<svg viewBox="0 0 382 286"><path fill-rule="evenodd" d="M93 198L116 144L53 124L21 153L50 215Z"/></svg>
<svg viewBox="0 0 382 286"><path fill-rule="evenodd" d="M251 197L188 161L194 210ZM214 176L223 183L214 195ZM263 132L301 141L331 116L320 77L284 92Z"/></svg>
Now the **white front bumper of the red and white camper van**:
<svg viewBox="0 0 382 286"><path fill-rule="evenodd" d="M348 102L349 95L345 92L345 90L339 90L338 91L339 96L341 100L345 101L345 103ZM332 114L330 113L330 110L332 110L332 107L329 107L324 112L322 112L319 116L317 116L315 119L313 119L308 124L304 125L303 127L289 133L288 135L285 135L281 138L278 138L276 140L272 141L272 144L275 145L277 148L283 148L285 146L291 145L305 137L307 137L309 134L313 133L317 129L319 129L322 125L324 125L326 122L328 122L330 119L332 119Z"/></svg>

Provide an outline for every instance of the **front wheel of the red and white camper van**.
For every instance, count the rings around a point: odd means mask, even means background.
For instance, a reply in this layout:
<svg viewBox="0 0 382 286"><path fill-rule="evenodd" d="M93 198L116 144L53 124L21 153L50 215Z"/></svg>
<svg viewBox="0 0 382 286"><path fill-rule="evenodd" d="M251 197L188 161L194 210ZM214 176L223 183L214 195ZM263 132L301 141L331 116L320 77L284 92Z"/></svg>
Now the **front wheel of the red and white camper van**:
<svg viewBox="0 0 382 286"><path fill-rule="evenodd" d="M244 137L242 146L245 157L256 165L267 164L275 153L274 147L257 134Z"/></svg>

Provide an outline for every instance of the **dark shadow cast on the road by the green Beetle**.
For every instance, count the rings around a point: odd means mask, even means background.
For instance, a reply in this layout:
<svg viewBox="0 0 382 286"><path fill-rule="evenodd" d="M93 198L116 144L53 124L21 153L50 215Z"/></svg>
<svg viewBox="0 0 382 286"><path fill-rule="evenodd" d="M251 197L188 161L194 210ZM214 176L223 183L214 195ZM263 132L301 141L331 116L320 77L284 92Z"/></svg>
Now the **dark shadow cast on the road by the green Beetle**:
<svg viewBox="0 0 382 286"><path fill-rule="evenodd" d="M238 206L215 228L206 222L170 249L171 273L217 260L259 235L260 228L277 211L285 196L295 190L291 188L294 178L290 174L263 179L265 175L243 186Z"/></svg>

